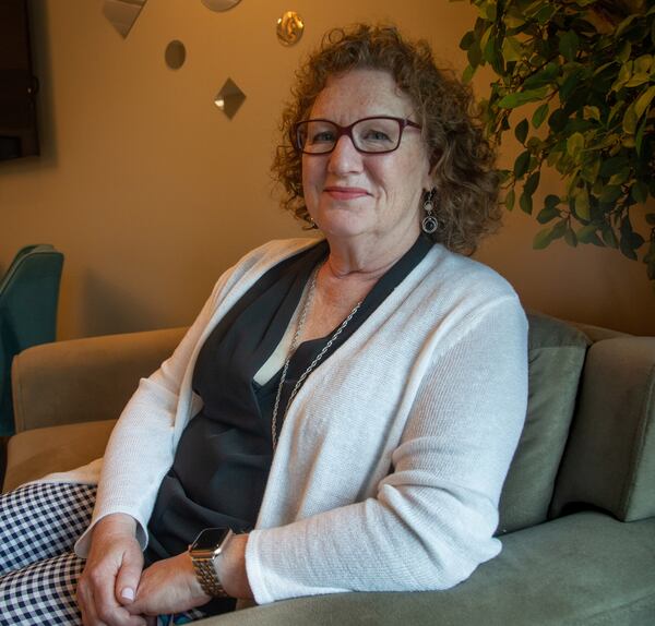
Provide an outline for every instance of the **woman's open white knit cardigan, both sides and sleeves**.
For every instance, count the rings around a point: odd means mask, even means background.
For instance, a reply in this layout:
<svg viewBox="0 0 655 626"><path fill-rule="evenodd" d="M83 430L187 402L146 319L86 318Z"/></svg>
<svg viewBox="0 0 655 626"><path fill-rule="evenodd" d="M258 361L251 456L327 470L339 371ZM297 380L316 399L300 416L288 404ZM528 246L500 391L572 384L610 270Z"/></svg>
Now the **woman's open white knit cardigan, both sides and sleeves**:
<svg viewBox="0 0 655 626"><path fill-rule="evenodd" d="M191 390L201 346L264 272L314 243L273 241L221 277L121 414L92 526L127 513L145 545L159 484L202 406ZM445 589L498 554L498 501L526 411L526 345L512 288L434 245L288 410L247 544L257 602ZM87 550L88 530L76 545Z"/></svg>

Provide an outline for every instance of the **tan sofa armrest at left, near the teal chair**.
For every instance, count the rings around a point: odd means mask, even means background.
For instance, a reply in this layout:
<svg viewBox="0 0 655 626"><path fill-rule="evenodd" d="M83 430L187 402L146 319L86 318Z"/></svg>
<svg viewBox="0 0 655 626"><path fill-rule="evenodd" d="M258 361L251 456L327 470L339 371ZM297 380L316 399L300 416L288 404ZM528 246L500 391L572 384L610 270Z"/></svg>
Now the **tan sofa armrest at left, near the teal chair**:
<svg viewBox="0 0 655 626"><path fill-rule="evenodd" d="M13 360L16 432L118 418L136 389L181 340L186 328L43 344Z"/></svg>

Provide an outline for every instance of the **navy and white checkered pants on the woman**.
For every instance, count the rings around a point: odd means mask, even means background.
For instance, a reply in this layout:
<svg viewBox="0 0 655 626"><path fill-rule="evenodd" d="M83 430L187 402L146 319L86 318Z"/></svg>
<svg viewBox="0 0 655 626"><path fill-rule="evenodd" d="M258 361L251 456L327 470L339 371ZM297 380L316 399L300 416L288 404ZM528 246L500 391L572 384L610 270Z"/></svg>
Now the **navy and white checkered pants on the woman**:
<svg viewBox="0 0 655 626"><path fill-rule="evenodd" d="M34 483L0 495L0 626L82 624L75 589L84 561L72 549L95 494L95 486Z"/></svg>

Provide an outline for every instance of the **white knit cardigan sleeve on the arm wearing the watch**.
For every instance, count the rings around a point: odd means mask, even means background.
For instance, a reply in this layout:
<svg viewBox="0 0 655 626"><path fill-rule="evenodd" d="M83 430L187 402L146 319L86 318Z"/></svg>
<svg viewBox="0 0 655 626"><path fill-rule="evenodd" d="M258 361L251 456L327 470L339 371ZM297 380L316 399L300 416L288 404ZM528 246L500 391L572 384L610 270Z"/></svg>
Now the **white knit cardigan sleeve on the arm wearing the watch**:
<svg viewBox="0 0 655 626"><path fill-rule="evenodd" d="M259 603L446 589L500 552L498 503L527 404L527 322L514 297L474 316L431 356L374 497L250 533Z"/></svg>

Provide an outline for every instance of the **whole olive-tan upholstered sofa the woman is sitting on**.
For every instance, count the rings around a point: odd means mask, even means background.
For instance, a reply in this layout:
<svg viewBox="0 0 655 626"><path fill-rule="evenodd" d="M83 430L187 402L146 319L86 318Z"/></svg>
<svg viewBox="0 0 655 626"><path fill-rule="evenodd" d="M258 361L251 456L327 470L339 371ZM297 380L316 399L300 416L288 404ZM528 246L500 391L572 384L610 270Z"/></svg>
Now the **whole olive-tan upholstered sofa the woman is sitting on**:
<svg viewBox="0 0 655 626"><path fill-rule="evenodd" d="M655 337L531 313L525 428L501 554L446 591L300 598L215 626L655 624ZM14 359L3 490L102 456L114 420L183 328L37 346Z"/></svg>

